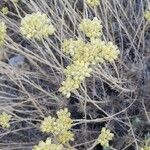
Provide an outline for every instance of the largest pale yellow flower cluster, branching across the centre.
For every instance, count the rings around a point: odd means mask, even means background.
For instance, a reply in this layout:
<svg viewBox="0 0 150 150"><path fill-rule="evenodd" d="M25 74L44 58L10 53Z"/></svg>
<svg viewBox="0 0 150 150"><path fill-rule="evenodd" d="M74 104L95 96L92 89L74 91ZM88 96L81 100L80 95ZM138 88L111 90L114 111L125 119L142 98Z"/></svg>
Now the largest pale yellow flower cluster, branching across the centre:
<svg viewBox="0 0 150 150"><path fill-rule="evenodd" d="M62 44L63 52L72 56L73 60L72 64L64 70L66 79L59 88L67 98L70 97L71 92L80 87L86 77L90 77L93 66L104 61L112 62L120 53L118 47L112 42L101 40L102 26L97 18L83 20L79 28L90 37L89 42L84 42L82 39L65 39Z"/></svg>

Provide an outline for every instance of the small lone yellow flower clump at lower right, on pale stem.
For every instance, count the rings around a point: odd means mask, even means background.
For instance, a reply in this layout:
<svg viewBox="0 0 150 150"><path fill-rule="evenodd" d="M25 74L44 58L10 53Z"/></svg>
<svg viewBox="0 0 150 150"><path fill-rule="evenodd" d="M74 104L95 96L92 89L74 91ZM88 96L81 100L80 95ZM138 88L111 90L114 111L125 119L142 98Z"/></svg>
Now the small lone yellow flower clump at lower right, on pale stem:
<svg viewBox="0 0 150 150"><path fill-rule="evenodd" d="M114 134L111 133L109 129L102 128L98 137L98 143L100 143L103 147L109 147L109 141L111 141L113 137Z"/></svg>

